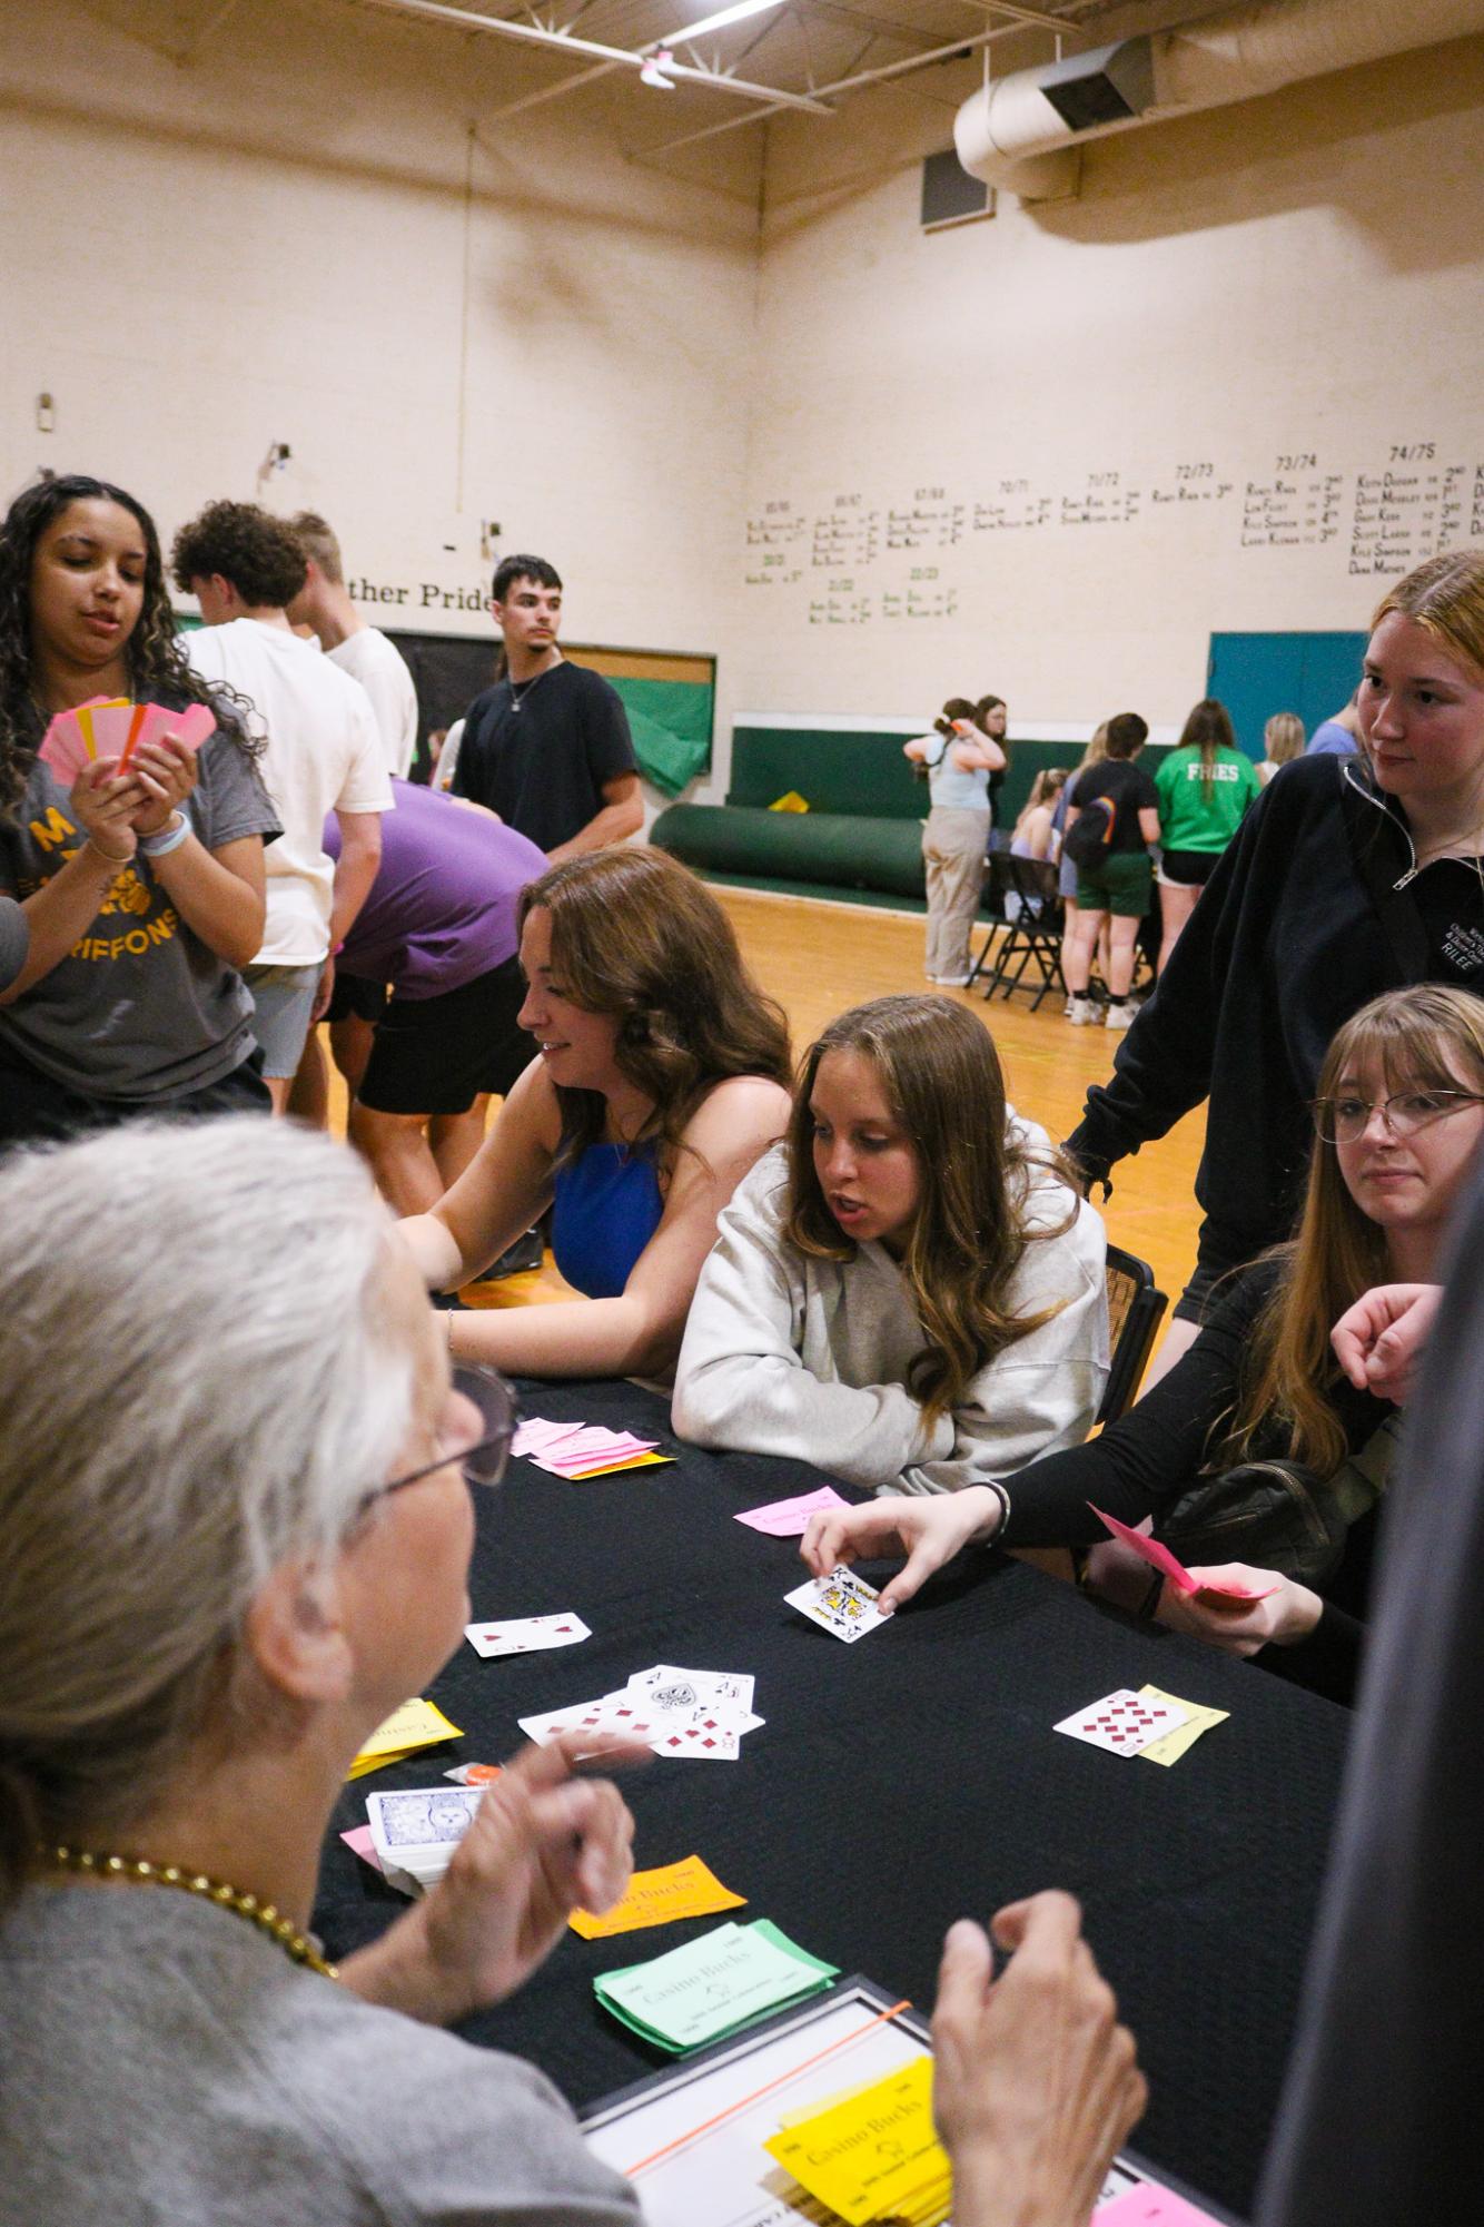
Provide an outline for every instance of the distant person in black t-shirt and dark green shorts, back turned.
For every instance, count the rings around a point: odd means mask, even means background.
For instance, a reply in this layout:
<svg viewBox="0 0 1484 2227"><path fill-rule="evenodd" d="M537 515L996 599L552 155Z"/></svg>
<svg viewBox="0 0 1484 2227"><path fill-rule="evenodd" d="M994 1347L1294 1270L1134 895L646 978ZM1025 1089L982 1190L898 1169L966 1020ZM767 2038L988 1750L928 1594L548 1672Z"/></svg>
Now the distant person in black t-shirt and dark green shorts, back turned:
<svg viewBox="0 0 1484 2227"><path fill-rule="evenodd" d="M1099 1018L1088 998L1092 953L1108 915L1108 1027L1132 1020L1128 984L1135 971L1139 922L1148 913L1152 864L1148 846L1159 842L1159 791L1135 759L1148 742L1148 724L1137 710L1108 722L1108 757L1077 775L1077 802L1066 815L1063 846L1079 820L1097 824L1104 842L1097 855L1077 860L1077 929L1061 944L1061 973L1070 993L1068 1020L1086 1027Z"/></svg>

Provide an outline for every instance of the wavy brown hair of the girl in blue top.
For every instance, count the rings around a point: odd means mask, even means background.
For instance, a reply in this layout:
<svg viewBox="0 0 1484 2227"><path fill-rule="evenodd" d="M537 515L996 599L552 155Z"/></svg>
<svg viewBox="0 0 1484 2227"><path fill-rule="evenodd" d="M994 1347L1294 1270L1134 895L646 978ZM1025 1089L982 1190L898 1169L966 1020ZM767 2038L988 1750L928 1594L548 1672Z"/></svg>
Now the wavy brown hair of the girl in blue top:
<svg viewBox="0 0 1484 2227"><path fill-rule="evenodd" d="M788 1087L783 1009L756 987L710 889L665 851L592 851L521 891L521 926L552 915L552 971L590 1013L614 1013L619 1073L654 1102L643 1136L674 1154L690 1116L728 1076ZM603 1136L601 1091L556 1085L561 1154Z"/></svg>

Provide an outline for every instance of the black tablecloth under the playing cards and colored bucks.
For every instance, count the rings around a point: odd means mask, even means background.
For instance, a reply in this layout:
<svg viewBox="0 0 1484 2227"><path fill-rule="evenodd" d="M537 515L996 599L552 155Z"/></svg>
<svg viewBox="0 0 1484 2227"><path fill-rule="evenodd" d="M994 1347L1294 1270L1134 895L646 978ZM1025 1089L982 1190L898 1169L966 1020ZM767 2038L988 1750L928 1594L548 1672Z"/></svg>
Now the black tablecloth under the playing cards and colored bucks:
<svg viewBox="0 0 1484 2227"><path fill-rule="evenodd" d="M679 1461L594 1483L514 1461L496 1494L476 1494L472 1612L570 1608L592 1639L496 1661L458 1650L432 1697L463 1742L358 1779L340 1799L316 1909L329 1955L405 1906L336 1837L365 1824L369 1791L438 1784L452 1762L501 1762L521 1744L516 1717L587 1701L656 1661L750 1670L765 1724L736 1762L656 1757L625 1775L636 1864L705 1857L748 1897L730 1915L772 1917L921 2009L954 1917L1068 1888L1150 2080L1137 2149L1248 2209L1348 1713L983 1552L845 1646L783 1606L808 1574L797 1541L732 1521L812 1490L817 1470L679 1445L663 1401L627 1383L530 1383L523 1412L632 1428ZM1168 1770L1052 1733L1115 1686L1148 1681L1230 1721ZM592 2102L665 2062L596 2007L592 1975L714 1924L596 1942L570 1933L509 2004L463 2031L534 2060L578 2107Z"/></svg>

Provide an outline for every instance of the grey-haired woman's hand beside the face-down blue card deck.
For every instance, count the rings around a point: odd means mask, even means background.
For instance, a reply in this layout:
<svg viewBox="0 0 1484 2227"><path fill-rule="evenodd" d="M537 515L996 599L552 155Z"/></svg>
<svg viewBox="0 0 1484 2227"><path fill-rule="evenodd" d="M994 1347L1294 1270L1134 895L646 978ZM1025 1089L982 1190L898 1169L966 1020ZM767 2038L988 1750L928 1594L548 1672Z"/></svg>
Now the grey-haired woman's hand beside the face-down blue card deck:
<svg viewBox="0 0 1484 2227"><path fill-rule="evenodd" d="M545 1960L576 1909L607 1911L634 1871L634 1819L578 1755L627 1764L627 1742L523 1748L489 1786L447 1873L340 1978L367 2002L449 2024L501 2002Z"/></svg>

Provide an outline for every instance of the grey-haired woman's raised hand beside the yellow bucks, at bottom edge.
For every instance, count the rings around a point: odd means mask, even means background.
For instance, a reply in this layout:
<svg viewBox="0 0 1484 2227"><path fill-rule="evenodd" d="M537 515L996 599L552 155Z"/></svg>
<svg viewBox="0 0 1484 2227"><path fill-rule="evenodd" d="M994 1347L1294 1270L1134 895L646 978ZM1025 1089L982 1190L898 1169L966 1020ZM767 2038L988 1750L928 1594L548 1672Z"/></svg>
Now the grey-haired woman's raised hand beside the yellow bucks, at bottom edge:
<svg viewBox="0 0 1484 2227"><path fill-rule="evenodd" d="M932 2116L954 2169L954 2227L1086 2227L1148 2089L1070 1895L995 1917L1012 1960L992 1978L983 1929L943 1944L932 2013Z"/></svg>

